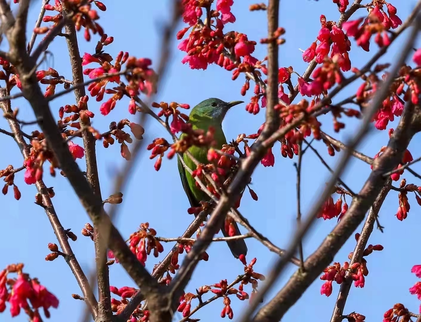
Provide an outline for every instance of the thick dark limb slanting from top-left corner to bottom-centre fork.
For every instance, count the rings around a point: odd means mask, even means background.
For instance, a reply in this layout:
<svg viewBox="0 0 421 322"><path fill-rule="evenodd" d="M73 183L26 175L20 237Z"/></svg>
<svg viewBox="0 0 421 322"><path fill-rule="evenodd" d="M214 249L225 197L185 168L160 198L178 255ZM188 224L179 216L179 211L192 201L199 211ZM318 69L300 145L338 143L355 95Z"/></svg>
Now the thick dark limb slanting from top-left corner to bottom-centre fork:
<svg viewBox="0 0 421 322"><path fill-rule="evenodd" d="M79 197L81 204L87 211L93 224L96 225L101 234L109 232L109 247L131 278L141 288L141 292L145 294L149 307L151 308L151 322L163 321L165 319L164 316L168 315L168 311L162 311L164 306L162 301L165 301L165 298L161 296L164 293L162 287L157 283L156 279L150 276L148 271L131 252L125 240L112 224L107 213L105 213L101 196L93 192L88 180L80 171L77 163L70 154L67 143L62 138L61 133L59 133L56 121L51 114L48 101L44 98L36 77L32 73L35 62L29 57L26 51L25 37L15 38L16 27L14 21L9 18L9 11L10 8L5 1L0 0L0 15L3 19L3 25L7 26L5 35L10 47L8 57L19 73L24 98L32 106L45 139L48 141L62 171L75 190L77 197ZM17 29L19 30L19 28Z"/></svg>

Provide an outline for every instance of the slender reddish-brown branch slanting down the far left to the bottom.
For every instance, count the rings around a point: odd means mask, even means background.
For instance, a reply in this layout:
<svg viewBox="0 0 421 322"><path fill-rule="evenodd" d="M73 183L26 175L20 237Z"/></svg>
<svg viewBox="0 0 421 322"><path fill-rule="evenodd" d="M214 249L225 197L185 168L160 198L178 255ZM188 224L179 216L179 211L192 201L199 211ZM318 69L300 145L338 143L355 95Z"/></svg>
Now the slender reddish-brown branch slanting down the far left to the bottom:
<svg viewBox="0 0 421 322"><path fill-rule="evenodd" d="M8 90L5 88L0 88L0 97L7 96ZM1 109L5 114L12 114L12 110L10 108L10 101L2 101L0 102ZM27 158L30 156L29 146L27 145L22 131L20 130L19 123L14 120L13 118L7 118L9 126L13 133L13 138L15 139L16 143L21 150L22 156ZM16 169L17 170L17 169ZM79 284L80 289L83 293L83 298L88 306L89 311L93 319L96 318L98 315L98 303L96 302L95 295L93 295L91 286L89 285L88 279L85 276L82 268L77 261L75 254L73 253L72 247L69 244L69 238L64 231L63 226L59 221L59 217L56 214L56 210L54 209L53 203L51 202L51 198L47 192L47 188L42 180L39 180L35 183L38 192L43 197L43 205L45 206L44 210L47 214L48 219L50 220L51 226L53 227L54 234L56 234L57 240L59 241L60 247L62 252L65 254L64 259L66 263L69 265L72 273L75 275L77 283Z"/></svg>

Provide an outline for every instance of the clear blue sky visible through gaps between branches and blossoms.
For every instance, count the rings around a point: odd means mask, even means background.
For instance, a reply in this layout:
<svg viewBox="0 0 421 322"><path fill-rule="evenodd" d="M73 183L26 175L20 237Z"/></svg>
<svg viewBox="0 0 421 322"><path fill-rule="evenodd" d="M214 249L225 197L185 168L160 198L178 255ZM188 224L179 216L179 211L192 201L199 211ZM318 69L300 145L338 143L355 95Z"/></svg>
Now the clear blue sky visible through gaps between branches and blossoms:
<svg viewBox="0 0 421 322"><path fill-rule="evenodd" d="M237 17L234 24L227 26L227 29L237 30L248 35L248 39L257 42L266 37L266 15L264 12L250 12L248 6L255 1L235 0L232 12ZM120 50L128 51L137 57L151 58L156 66L159 57L161 24L170 15L171 1L104 1L107 5L105 13L100 12L100 23L109 36L114 37L114 43L107 46L107 51L115 56ZM363 2L365 3L365 2ZM28 19L28 32L37 19L41 1L33 1ZM394 1L398 9L397 14L402 20L408 16L415 5L415 1ZM304 72L307 64L301 59L301 51L298 48L306 49L315 40L320 29L320 14L324 14L328 20L337 21L339 13L332 1L311 1L295 0L281 1L280 3L280 26L286 29L286 43L280 46L279 63L280 67L293 66L298 73ZM355 18L364 16L364 9L354 14ZM180 28L181 29L181 25ZM405 33L381 59L382 62L392 61L397 50L405 39ZM80 53L93 53L97 37L94 36L91 43L83 40L83 34L79 33ZM419 43L418 43L419 44ZM240 96L240 88L244 79L239 77L236 81L231 80L231 73L218 66L210 66L206 71L191 70L188 66L181 64L184 53L176 49L174 41L171 56L171 66L168 69L167 77L161 84L159 97L156 101L177 101L188 103L194 106L208 97L218 97L225 101L243 99ZM266 47L256 46L254 56L263 58ZM49 66L57 69L60 75L71 78L71 70L67 54L67 46L63 38L57 38L51 44L49 50L53 57L43 64L41 68ZM377 50L372 44L371 51L366 53L357 48L352 41L350 58L353 66L361 67L365 61L370 59ZM348 89L337 96L336 101L352 95L357 86L357 81ZM252 92L244 99L247 101ZM299 97L296 101L298 101ZM51 110L56 115L60 106L74 104L75 99L72 93L61 96L50 104ZM34 120L32 109L23 100L13 101L13 107L19 107L20 117L31 121ZM89 100L89 109L96 113L93 125L99 130L105 131L112 121L118 121L125 117L136 120L127 112L128 100L119 101L116 108L106 117L99 113L100 104L94 99ZM264 110L256 116L245 111L245 104L233 108L227 114L223 128L228 140L235 138L239 133L256 133L258 127L264 120ZM332 134L333 125L330 116L320 119L325 132ZM345 140L349 138L356 129L358 122L346 120L346 129L334 137ZM397 122L389 123L395 127ZM0 120L0 127L7 129L5 120ZM30 132L30 128L24 128ZM148 121L144 135L145 143L149 144L155 137L168 138L168 134L157 122ZM410 144L410 152L416 158L420 155L419 135ZM381 146L388 141L387 131L373 131L370 138L366 139L359 147L359 150L371 157L376 154ZM81 141L75 141L81 144ZM329 157L324 144L316 142L314 146L319 150L328 164L334 166L338 157ZM16 168L21 166L22 157L15 142L3 136L2 149L6 157L0 161L0 168L12 164ZM282 158L279 144L275 145L275 166L264 168L259 165L253 174L253 189L258 194L258 201L245 193L240 210L250 223L268 237L279 247L286 247L291 234L295 228L296 196L295 180L296 174L293 167L294 160ZM104 149L99 143L97 145L97 158L103 199L112 192L112 178L122 167L125 160L120 156L120 148L117 144ZM181 187L176 160L164 158L163 165L159 172L153 169L155 160L149 160L149 152L143 150L136 164L136 169L131 175L127 189L124 193L124 202L119 205L119 216L116 225L123 237L128 237L136 230L140 223L148 221L150 226L157 230L159 236L177 237L184 232L184 229L192 221L192 216L187 214L189 203ZM85 169L84 160L78 161L80 168ZM421 165L414 165L413 170L421 171ZM302 168L302 212L303 215L317 200L317 196L328 180L328 171L319 162L317 157L308 151L303 158ZM353 160L346 169L342 179L354 191L359 191L370 173L368 165L361 161ZM419 181L410 174L405 173L403 178L408 183L419 185ZM71 246L77 256L80 265L89 274L93 267L93 243L87 237L80 234L80 229L87 223L88 216L79 201L75 197L72 188L65 178L57 176L51 178L45 175L45 184L53 186L56 196L53 203L56 212L64 228L72 228L78 235L77 242L71 242ZM48 290L54 293L60 300L57 310L51 309L51 321L75 321L81 317L85 309L82 301L74 300L72 293L81 294L75 278L69 267L61 258L46 262L45 255L48 254L48 242L56 242L55 235L49 224L44 211L33 203L36 193L35 186L27 186L23 182L23 172L16 175L16 183L22 193L21 200L13 199L12 194L1 197L3 211L1 213L2 234L0 235L1 254L0 269L9 263L24 262L24 271L32 277L38 277L40 282ZM397 184L396 184L397 185ZM347 198L348 203L350 201ZM400 222L394 216L398 207L397 193L390 192L380 211L380 221L385 227L384 234L375 230L370 237L369 243L381 244L384 250L371 254L368 260L370 274L366 278L363 289L352 288L345 307L345 314L356 311L367 317L367 321L382 319L386 310L394 303L404 303L411 311L417 311L419 301L416 296L410 295L408 288L417 281L410 269L415 264L421 264L419 252L419 227L421 224L421 210L416 204L413 196L409 197L411 211L405 221ZM304 255L310 255L323 238L336 224L336 220L323 221L320 219L304 240ZM13 229L12 229L13 228ZM358 229L360 231L360 228ZM263 245L255 240L248 239L247 260L257 257L255 270L266 274L270 269L275 255L270 253ZM354 249L354 239L350 239L341 251L335 256L335 261L343 263L347 256ZM172 244L165 244L165 255L172 247ZM193 291L202 285L211 285L219 282L220 279L232 281L238 274L243 272L240 261L235 260L224 242L213 243L208 250L210 259L208 262L200 262L187 286L186 291ZM162 256L163 256L162 255ZM161 259L163 257L158 258ZM149 258L147 268L151 269L157 263L155 258ZM295 266L288 266L287 274L273 287L271 294L266 295L266 300L271 298L277 290L286 282L287 277L296 270ZM115 264L110 267L110 282L116 287L135 286L130 277L123 269ZM339 285L333 285L333 293L329 298L320 295L322 281L316 280L284 317L284 321L309 320L317 317L317 320L326 321L330 319L331 312L336 300ZM251 287L245 288L251 291ZM209 295L210 297L210 295ZM204 297L206 298L206 296ZM193 302L193 305L197 304ZM232 309L234 319L240 317L240 310L247 305L245 302L232 298ZM219 319L219 312L223 308L222 300L215 301L197 312L193 317L202 321L214 321ZM65 315L64 315L65 314ZM65 318L63 318L65 316ZM5 311L2 316L5 322L12 321L10 314ZM181 318L176 315L175 319ZM13 321L25 321L26 317L16 317Z"/></svg>

